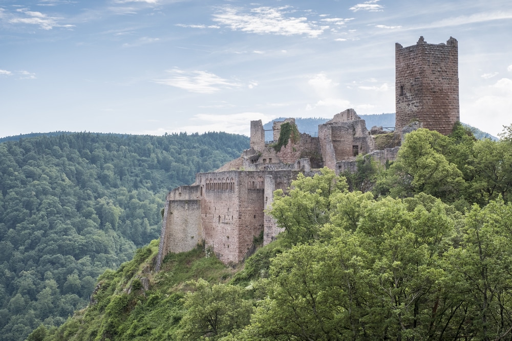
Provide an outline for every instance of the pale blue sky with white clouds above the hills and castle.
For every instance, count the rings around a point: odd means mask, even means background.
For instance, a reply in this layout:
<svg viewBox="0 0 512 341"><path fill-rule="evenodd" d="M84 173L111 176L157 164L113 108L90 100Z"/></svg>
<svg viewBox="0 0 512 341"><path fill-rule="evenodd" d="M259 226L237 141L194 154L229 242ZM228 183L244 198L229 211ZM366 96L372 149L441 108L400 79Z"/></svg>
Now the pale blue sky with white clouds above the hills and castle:
<svg viewBox="0 0 512 341"><path fill-rule="evenodd" d="M510 0L0 0L0 137L395 112L395 43L459 46L460 120L512 123Z"/></svg>

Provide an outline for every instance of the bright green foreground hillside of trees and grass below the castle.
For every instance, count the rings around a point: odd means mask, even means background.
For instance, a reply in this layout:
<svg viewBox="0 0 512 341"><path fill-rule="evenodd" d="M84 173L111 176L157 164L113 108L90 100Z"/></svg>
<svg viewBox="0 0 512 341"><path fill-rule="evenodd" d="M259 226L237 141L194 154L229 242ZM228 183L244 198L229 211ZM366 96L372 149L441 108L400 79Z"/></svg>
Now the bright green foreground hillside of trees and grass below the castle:
<svg viewBox="0 0 512 341"><path fill-rule="evenodd" d="M155 273L152 241L29 340L512 339L512 126L501 138L419 129L385 167L300 175L274 193L284 232L243 264L198 245Z"/></svg>

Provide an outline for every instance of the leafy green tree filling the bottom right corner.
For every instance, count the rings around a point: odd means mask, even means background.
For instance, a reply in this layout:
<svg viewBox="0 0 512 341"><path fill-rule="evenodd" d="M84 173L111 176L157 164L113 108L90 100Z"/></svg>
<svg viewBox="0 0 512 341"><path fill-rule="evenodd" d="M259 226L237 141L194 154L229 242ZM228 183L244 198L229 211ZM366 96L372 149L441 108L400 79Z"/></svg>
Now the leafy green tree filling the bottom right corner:
<svg viewBox="0 0 512 341"><path fill-rule="evenodd" d="M512 332L512 206L492 201L466 215L460 247L446 255L446 271L464 293L463 314L452 336L510 339Z"/></svg>

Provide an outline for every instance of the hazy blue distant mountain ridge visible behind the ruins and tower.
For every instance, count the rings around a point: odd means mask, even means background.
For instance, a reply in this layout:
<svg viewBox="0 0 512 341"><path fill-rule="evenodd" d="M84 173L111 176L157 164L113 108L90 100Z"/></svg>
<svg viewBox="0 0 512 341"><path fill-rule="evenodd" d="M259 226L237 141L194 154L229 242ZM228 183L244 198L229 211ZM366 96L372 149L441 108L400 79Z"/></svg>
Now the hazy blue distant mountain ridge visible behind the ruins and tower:
<svg viewBox="0 0 512 341"><path fill-rule="evenodd" d="M394 127L395 126L395 113L375 113L372 115L359 115L359 117L366 121L366 128L370 130L373 126L379 127ZM272 122L274 121L284 121L285 117L276 118L270 122L267 122L263 125L265 131L265 140L271 141L272 137ZM296 118L295 123L297 125L298 131L308 133L312 136L316 136L318 134L318 125L324 124L331 119L326 118ZM481 139L491 139L494 141L498 141L498 138L489 134L488 132L482 131L476 127L473 127L469 124L462 123L465 127L471 129L475 138L478 140Z"/></svg>

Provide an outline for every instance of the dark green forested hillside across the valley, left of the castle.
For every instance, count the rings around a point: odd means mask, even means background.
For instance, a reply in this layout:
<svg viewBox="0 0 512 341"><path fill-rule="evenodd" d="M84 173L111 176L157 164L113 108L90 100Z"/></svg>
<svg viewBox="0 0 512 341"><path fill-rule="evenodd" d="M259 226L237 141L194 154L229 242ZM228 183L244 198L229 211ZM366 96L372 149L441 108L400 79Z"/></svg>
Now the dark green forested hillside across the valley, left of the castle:
<svg viewBox="0 0 512 341"><path fill-rule="evenodd" d="M158 238L168 190L249 145L227 133L60 133L0 143L0 339L58 326Z"/></svg>

